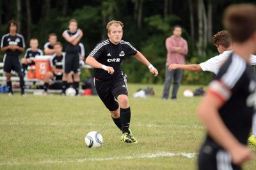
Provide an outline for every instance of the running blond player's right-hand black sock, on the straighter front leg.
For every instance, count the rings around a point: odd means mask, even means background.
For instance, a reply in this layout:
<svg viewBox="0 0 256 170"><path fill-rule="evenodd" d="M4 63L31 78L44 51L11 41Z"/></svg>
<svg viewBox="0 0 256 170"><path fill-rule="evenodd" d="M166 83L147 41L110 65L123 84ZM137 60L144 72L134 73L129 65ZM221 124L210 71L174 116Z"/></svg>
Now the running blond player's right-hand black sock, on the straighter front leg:
<svg viewBox="0 0 256 170"><path fill-rule="evenodd" d="M131 120L131 109L128 107L127 109L120 108L120 120L122 123L122 131L123 133L129 133L129 125Z"/></svg>

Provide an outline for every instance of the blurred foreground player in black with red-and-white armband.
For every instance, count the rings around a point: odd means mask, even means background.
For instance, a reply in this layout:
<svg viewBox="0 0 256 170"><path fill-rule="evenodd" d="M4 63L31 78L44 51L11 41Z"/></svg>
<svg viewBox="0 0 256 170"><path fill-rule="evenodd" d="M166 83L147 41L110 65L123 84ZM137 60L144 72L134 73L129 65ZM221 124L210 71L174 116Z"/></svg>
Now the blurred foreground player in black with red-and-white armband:
<svg viewBox="0 0 256 170"><path fill-rule="evenodd" d="M246 145L255 112L256 80L250 54L256 52L256 6L228 7L224 24L234 51L209 84L198 108L198 116L207 128L198 155L200 170L239 170L246 160L252 159Z"/></svg>

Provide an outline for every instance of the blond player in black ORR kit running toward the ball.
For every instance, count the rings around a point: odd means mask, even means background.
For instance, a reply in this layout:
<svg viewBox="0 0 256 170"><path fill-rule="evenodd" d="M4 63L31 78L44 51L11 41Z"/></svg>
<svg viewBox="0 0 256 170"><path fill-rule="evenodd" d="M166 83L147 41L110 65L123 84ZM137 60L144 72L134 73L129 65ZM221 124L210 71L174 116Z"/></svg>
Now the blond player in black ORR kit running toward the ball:
<svg viewBox="0 0 256 170"><path fill-rule="evenodd" d="M127 76L120 65L125 56L134 56L148 66L157 76L157 69L129 42L122 40L124 24L112 20L107 24L108 39L98 43L86 58L86 64L94 68L94 81L97 93L111 112L116 126L122 130L121 141L138 143L129 130L131 109L128 100Z"/></svg>

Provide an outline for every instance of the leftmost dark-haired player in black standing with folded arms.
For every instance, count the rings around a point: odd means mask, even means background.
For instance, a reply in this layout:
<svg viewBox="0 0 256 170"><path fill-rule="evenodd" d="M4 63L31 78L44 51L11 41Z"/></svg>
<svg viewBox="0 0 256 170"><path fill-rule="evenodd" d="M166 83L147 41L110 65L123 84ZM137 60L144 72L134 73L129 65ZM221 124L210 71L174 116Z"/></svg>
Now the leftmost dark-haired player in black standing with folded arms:
<svg viewBox="0 0 256 170"><path fill-rule="evenodd" d="M10 33L3 36L1 40L1 50L6 52L4 54L4 72L6 76L6 84L9 88L9 95L13 95L11 71L18 73L20 78L21 95L25 96L24 92L24 75L20 65L19 55L25 50L25 42L22 35L17 33L18 24L15 21L9 23Z"/></svg>

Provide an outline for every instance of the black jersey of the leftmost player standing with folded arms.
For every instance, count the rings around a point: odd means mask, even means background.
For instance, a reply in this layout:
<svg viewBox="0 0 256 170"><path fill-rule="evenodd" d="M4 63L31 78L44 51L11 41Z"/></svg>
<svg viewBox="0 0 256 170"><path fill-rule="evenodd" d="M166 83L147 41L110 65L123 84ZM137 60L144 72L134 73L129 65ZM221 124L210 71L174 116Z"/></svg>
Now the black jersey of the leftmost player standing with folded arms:
<svg viewBox="0 0 256 170"><path fill-rule="evenodd" d="M16 34L15 36L11 36L10 34L6 34L2 37L1 41L1 48L6 47L8 45L18 45L19 47L25 48L25 42L24 38L20 34ZM20 55L20 50L6 50L6 55L7 56L17 56L19 57Z"/></svg>

